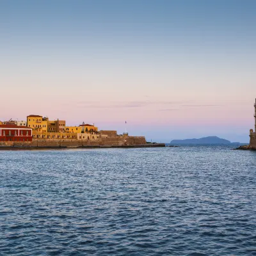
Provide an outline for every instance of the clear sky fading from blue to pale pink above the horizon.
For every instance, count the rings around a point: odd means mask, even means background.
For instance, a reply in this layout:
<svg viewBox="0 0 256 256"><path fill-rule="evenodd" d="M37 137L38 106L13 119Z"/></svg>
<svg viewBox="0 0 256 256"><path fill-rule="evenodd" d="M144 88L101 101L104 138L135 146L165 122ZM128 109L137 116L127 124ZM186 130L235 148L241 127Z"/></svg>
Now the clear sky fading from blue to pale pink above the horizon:
<svg viewBox="0 0 256 256"><path fill-rule="evenodd" d="M0 120L248 142L254 0L0 0Z"/></svg>

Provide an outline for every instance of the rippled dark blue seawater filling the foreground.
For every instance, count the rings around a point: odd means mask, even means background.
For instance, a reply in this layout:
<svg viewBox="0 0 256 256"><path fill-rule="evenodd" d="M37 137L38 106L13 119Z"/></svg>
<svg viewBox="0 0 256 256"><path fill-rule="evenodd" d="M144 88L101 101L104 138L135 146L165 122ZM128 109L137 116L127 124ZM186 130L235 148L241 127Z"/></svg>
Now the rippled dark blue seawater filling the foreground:
<svg viewBox="0 0 256 256"><path fill-rule="evenodd" d="M0 151L0 255L256 255L256 152Z"/></svg>

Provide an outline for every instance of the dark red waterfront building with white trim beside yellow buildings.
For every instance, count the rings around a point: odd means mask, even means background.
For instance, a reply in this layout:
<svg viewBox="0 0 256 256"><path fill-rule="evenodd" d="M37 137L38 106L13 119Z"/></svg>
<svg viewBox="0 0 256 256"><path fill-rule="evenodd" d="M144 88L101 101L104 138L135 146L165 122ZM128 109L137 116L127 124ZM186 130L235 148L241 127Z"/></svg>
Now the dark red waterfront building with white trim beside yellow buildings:
<svg viewBox="0 0 256 256"><path fill-rule="evenodd" d="M32 128L0 125L0 141L32 141Z"/></svg>

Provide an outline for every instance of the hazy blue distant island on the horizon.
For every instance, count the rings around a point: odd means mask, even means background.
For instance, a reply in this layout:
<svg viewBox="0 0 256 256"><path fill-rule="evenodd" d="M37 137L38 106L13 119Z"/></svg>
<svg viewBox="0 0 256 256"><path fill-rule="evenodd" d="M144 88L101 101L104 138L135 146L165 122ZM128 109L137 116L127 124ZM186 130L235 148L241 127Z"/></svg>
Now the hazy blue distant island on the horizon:
<svg viewBox="0 0 256 256"><path fill-rule="evenodd" d="M234 145L240 144L239 142L231 143L229 140L218 138L217 136L209 136L200 139L186 139L186 140L172 140L170 142L171 145L188 145L188 144L196 144L196 145L205 145L205 144L218 144L218 145Z"/></svg>

